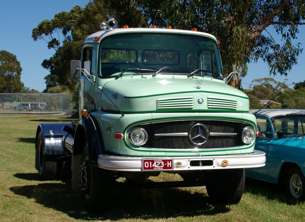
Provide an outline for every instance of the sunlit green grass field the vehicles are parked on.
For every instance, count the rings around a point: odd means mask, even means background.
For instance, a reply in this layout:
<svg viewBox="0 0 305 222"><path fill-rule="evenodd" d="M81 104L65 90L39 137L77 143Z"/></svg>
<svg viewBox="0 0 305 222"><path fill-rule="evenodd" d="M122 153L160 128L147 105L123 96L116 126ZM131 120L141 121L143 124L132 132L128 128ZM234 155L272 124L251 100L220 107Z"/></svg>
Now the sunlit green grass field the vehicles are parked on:
<svg viewBox="0 0 305 222"><path fill-rule="evenodd" d="M0 117L0 221L304 221L305 204L282 187L246 179L237 205L210 202L205 187L114 190L110 211L84 211L71 181L41 181L35 169L35 133L40 122L69 118ZM175 180L177 175L161 174ZM158 179L155 178L155 179ZM219 178L226 185L226 181Z"/></svg>

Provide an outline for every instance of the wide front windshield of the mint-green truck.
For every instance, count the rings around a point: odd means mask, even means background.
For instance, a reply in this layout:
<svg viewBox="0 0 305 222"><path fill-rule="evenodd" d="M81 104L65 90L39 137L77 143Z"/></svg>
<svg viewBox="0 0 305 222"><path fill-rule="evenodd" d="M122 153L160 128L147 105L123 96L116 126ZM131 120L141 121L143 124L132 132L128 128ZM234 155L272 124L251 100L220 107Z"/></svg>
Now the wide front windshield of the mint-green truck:
<svg viewBox="0 0 305 222"><path fill-rule="evenodd" d="M222 79L221 60L215 41L177 33L113 35L100 44L101 77L161 73L205 75ZM128 70L127 70L128 69Z"/></svg>

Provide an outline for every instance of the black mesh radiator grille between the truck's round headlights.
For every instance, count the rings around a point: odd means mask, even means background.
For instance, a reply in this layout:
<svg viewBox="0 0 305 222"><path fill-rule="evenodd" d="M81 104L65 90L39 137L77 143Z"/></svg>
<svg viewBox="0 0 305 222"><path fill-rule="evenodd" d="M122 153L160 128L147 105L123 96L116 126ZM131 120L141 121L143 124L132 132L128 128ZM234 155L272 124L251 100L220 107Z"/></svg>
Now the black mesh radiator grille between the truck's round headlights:
<svg viewBox="0 0 305 222"><path fill-rule="evenodd" d="M201 127L204 125L206 128L203 127L202 129L208 131L207 136L205 136L207 140L203 144L200 144L199 141L202 139L201 137L190 139L190 137L198 135L200 131L200 127L198 130L198 124ZM201 120L160 122L149 125L151 148L208 149L239 146L240 143L240 123L236 122ZM146 125L145 128L147 127ZM204 134L204 132L201 133ZM190 134L193 135L190 136Z"/></svg>

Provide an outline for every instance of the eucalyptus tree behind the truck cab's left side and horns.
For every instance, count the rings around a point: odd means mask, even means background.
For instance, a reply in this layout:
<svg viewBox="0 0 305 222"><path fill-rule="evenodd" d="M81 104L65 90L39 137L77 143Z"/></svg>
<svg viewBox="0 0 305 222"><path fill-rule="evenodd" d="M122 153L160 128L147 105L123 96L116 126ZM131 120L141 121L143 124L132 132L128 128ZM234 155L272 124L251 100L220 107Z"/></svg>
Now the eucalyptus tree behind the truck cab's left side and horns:
<svg viewBox="0 0 305 222"><path fill-rule="evenodd" d="M45 19L33 29L34 41L43 40L55 54L42 62L42 67L49 70L46 81L59 84L63 90L77 93L76 79L70 78L70 60L81 59L84 39L100 31L100 24L115 16L119 27L124 24L147 26L139 7L133 1L98 1L89 2L85 8L74 6L70 12L59 12L53 19ZM48 87L47 87L48 88ZM75 99L77 100L77 99Z"/></svg>

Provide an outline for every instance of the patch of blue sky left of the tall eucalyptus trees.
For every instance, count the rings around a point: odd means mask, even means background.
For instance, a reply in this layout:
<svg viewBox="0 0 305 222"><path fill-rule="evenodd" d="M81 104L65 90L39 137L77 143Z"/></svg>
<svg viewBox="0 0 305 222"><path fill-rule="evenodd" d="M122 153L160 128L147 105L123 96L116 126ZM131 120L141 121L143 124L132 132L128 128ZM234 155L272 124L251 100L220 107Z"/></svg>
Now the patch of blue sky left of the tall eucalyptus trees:
<svg viewBox="0 0 305 222"><path fill-rule="evenodd" d="M79 5L85 7L89 0L0 0L0 50L16 55L20 62L21 82L30 89L42 92L49 71L41 63L51 58L55 51L48 49L43 40L34 41L32 30L55 14Z"/></svg>

